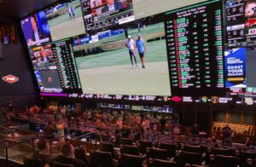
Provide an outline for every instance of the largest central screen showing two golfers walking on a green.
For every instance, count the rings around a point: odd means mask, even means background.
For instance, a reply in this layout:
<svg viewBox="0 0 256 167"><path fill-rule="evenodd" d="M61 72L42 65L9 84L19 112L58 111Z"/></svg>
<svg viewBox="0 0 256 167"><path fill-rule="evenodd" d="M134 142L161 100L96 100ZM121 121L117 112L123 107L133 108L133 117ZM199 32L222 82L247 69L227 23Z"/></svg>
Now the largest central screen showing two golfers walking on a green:
<svg viewBox="0 0 256 167"><path fill-rule="evenodd" d="M163 15L74 40L84 94L171 95Z"/></svg>

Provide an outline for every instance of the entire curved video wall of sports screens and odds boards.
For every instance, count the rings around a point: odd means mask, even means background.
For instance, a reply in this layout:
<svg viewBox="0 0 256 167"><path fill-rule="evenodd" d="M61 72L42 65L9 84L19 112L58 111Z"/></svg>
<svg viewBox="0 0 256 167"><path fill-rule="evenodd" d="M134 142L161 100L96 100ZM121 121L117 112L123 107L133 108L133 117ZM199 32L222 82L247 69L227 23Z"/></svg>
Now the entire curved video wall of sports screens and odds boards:
<svg viewBox="0 0 256 167"><path fill-rule="evenodd" d="M256 92L254 6L67 0L20 22L42 95L226 103Z"/></svg>

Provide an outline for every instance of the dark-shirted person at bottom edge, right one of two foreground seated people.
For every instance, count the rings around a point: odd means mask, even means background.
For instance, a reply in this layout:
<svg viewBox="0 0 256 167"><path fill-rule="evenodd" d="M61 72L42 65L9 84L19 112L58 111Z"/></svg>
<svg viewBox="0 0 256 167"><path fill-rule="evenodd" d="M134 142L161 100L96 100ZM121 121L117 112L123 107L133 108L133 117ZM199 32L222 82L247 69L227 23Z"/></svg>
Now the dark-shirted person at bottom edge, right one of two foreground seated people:
<svg viewBox="0 0 256 167"><path fill-rule="evenodd" d="M88 167L83 161L75 158L74 156L74 147L67 143L61 147L61 153L59 157L55 158L55 161L62 164L73 164L75 167Z"/></svg>

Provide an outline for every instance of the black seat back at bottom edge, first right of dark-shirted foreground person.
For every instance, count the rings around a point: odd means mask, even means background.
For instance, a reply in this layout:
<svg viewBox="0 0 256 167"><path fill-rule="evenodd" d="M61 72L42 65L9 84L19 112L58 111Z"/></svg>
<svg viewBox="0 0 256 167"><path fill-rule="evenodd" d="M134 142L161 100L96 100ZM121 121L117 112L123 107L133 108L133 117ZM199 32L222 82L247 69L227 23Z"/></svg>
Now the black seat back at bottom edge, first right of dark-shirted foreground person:
<svg viewBox="0 0 256 167"><path fill-rule="evenodd" d="M93 167L113 167L113 158L109 152L95 151L92 153L91 166Z"/></svg>

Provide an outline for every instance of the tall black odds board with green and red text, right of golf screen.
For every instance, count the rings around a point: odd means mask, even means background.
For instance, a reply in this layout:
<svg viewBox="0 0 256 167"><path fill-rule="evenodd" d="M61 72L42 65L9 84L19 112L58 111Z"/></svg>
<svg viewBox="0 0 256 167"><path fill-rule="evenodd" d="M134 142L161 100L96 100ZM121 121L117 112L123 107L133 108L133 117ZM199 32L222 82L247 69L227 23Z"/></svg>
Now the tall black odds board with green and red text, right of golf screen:
<svg viewBox="0 0 256 167"><path fill-rule="evenodd" d="M166 13L172 95L225 95L222 27L218 0Z"/></svg>

